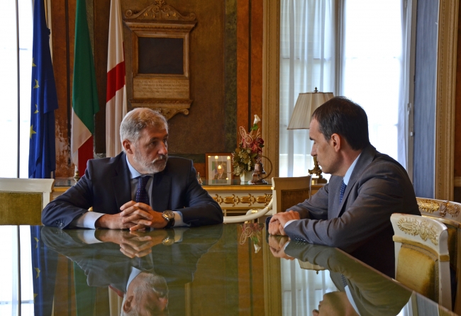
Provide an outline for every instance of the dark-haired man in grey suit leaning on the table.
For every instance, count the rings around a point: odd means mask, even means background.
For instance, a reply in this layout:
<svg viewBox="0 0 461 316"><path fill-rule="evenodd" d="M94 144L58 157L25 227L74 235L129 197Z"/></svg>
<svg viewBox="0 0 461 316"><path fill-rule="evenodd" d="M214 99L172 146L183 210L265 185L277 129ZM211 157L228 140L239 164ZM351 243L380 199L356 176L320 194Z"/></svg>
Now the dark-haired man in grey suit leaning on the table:
<svg viewBox="0 0 461 316"><path fill-rule="evenodd" d="M274 215L272 235L338 247L394 277L392 213L421 215L404 167L370 144L365 111L344 97L316 109L312 156L331 174L326 186Z"/></svg>

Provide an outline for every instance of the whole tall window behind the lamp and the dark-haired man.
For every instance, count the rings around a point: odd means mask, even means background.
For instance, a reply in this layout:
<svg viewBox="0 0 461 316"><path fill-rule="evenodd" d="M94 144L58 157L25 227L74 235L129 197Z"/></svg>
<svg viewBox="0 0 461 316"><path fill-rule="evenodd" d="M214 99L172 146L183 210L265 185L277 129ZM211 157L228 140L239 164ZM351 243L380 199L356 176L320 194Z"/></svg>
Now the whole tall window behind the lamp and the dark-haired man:
<svg viewBox="0 0 461 316"><path fill-rule="evenodd" d="M313 167L309 130L287 125L298 94L315 87L359 103L372 145L406 167L406 1L282 0L280 14L279 175Z"/></svg>

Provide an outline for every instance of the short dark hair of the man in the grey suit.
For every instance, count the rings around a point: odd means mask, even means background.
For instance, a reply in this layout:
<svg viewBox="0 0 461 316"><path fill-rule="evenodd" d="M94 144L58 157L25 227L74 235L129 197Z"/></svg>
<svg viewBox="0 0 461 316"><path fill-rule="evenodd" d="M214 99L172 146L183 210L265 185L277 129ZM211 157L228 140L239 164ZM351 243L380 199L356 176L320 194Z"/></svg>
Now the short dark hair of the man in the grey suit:
<svg viewBox="0 0 461 316"><path fill-rule="evenodd" d="M312 118L318 122L318 130L326 140L334 133L344 137L354 150L370 144L367 113L357 103L344 96L336 96L319 106Z"/></svg>

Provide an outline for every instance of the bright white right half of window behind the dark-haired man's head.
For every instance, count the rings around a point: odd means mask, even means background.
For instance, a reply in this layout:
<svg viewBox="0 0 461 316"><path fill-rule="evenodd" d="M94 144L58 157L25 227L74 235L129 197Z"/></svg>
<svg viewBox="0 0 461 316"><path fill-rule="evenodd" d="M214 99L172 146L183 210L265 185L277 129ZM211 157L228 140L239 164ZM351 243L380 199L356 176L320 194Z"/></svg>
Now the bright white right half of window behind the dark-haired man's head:
<svg viewBox="0 0 461 316"><path fill-rule="evenodd" d="M372 145L406 167L402 9L401 0L345 0L340 94L367 112Z"/></svg>

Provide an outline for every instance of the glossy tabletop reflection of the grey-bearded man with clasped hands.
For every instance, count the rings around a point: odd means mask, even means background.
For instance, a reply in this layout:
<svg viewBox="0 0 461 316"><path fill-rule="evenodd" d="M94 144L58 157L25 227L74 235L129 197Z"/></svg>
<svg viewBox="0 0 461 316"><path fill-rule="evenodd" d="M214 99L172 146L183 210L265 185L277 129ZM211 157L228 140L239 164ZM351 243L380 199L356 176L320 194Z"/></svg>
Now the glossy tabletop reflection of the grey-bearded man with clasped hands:
<svg viewBox="0 0 461 316"><path fill-rule="evenodd" d="M184 284L193 281L199 259L223 229L204 228L128 232L44 227L42 238L84 271L89 286L110 286L123 296L121 315L183 315Z"/></svg>

